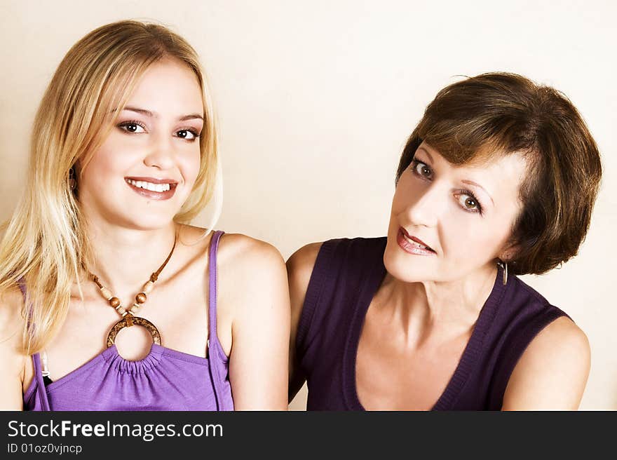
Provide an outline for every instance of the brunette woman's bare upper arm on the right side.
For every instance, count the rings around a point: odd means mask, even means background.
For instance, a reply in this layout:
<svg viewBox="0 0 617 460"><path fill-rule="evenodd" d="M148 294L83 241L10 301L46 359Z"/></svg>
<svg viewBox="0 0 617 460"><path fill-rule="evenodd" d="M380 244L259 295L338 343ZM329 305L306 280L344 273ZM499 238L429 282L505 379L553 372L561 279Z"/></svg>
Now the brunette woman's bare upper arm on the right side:
<svg viewBox="0 0 617 460"><path fill-rule="evenodd" d="M513 370L502 410L576 410L590 368L585 333L557 318L531 341Z"/></svg>

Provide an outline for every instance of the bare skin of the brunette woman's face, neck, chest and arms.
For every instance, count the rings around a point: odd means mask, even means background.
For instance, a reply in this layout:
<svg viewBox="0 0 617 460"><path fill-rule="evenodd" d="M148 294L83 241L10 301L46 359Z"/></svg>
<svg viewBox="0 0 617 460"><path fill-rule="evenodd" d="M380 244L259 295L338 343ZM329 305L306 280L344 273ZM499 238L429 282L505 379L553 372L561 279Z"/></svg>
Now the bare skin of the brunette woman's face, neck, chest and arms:
<svg viewBox="0 0 617 460"><path fill-rule="evenodd" d="M360 334L356 387L368 410L430 410L445 390L491 292L496 262L516 251L509 241L522 207L518 192L525 168L519 154L455 166L426 143L417 149L395 190L387 273ZM434 252L402 250L401 227ZM287 261L290 400L306 380L294 344L321 244L306 245ZM522 354L502 409L576 410L589 367L587 337L571 320L559 318Z"/></svg>

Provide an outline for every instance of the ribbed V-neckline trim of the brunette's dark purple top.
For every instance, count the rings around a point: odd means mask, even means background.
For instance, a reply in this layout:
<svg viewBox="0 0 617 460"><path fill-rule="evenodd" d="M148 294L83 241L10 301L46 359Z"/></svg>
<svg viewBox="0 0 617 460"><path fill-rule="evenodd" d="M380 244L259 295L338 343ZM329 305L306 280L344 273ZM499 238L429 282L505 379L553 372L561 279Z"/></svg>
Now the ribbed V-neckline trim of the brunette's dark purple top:
<svg viewBox="0 0 617 460"><path fill-rule="evenodd" d="M364 325L367 311L374 295L377 293L377 290L379 290L381 282L384 280L384 276L386 276L386 267L384 266L383 259L375 264L371 264L371 266L372 269L365 274L362 290L360 290L358 294L358 301L355 304L351 325L348 328L345 350L343 353L343 365L341 367L343 372L343 395L344 403L349 410L366 410L365 407L362 406L362 403L360 403L360 398L358 398L355 363L358 358L360 333L362 332L362 326ZM502 276L502 269L499 267L491 293L480 310L480 314L473 327L471 337L463 350L461 359L456 365L454 373L452 377L450 377L445 390L441 393L430 410L449 410L456 402L473 367L475 367L480 351L482 351L484 337L494 320L496 308L501 303L503 293L506 292L506 288L508 287L501 282ZM510 282L508 282L508 284L510 284Z"/></svg>

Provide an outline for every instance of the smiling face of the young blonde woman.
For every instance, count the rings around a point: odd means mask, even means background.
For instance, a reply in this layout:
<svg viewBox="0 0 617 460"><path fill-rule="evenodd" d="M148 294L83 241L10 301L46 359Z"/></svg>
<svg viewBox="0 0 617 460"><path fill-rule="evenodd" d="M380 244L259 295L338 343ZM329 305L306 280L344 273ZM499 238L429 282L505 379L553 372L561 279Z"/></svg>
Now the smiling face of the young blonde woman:
<svg viewBox="0 0 617 460"><path fill-rule="evenodd" d="M133 229L170 224L196 180L202 128L194 72L177 60L151 65L81 171L86 216Z"/></svg>

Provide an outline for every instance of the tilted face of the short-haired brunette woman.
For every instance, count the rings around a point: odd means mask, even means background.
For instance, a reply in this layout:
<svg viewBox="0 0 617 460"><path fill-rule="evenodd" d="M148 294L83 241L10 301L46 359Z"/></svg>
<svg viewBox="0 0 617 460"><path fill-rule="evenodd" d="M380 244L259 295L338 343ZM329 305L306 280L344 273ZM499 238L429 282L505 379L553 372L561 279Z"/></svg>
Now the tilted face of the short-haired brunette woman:
<svg viewBox="0 0 617 460"><path fill-rule="evenodd" d="M392 201L388 273L409 283L452 281L507 259L525 166L520 154L456 166L422 142Z"/></svg>

